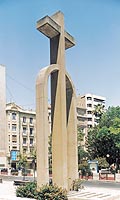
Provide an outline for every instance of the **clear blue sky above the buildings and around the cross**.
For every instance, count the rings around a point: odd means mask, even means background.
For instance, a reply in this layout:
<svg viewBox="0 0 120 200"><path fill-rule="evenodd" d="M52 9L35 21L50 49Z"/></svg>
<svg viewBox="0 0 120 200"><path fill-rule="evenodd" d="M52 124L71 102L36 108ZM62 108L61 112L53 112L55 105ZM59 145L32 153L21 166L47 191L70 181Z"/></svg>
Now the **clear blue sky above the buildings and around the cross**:
<svg viewBox="0 0 120 200"><path fill-rule="evenodd" d="M39 71L50 64L49 39L36 22L57 11L76 41L66 51L66 69L77 95L106 97L120 106L119 0L0 0L0 64L6 67L6 100L35 109Z"/></svg>

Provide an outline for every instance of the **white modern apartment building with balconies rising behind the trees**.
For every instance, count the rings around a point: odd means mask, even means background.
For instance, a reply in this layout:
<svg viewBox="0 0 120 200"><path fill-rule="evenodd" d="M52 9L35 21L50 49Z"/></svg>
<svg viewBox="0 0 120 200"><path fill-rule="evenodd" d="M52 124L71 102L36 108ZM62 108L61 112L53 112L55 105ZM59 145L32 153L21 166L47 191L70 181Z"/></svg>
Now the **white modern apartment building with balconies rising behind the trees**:
<svg viewBox="0 0 120 200"><path fill-rule="evenodd" d="M79 97L81 102L84 102L87 110L87 127L94 127L98 123L98 118L94 115L96 105L103 105L105 107L106 98L94 94L85 94Z"/></svg>

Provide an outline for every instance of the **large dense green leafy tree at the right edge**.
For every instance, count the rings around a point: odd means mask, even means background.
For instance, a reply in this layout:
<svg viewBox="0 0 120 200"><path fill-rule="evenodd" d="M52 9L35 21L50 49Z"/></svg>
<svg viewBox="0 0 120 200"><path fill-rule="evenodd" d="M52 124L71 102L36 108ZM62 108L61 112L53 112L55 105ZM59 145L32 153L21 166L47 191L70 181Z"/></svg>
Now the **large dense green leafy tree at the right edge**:
<svg viewBox="0 0 120 200"><path fill-rule="evenodd" d="M120 107L109 107L102 114L99 124L88 131L87 147L92 159L106 158L109 154L110 164L115 163L116 158L120 163Z"/></svg>

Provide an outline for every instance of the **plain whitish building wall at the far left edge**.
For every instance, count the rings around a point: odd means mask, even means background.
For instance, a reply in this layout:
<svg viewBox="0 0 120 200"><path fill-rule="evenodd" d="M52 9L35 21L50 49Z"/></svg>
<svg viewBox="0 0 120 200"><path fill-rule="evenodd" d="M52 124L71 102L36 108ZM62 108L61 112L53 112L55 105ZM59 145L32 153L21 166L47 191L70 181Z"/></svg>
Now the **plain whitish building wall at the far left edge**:
<svg viewBox="0 0 120 200"><path fill-rule="evenodd" d="M0 165L6 166L6 84L5 84L5 66L0 65Z"/></svg>

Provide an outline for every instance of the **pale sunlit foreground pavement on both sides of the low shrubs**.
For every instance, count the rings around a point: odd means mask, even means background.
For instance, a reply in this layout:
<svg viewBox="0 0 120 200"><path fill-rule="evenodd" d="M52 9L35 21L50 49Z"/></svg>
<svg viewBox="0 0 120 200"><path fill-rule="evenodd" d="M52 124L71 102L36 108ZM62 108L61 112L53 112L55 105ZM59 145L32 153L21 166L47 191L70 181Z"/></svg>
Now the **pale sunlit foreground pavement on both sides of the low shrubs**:
<svg viewBox="0 0 120 200"><path fill-rule="evenodd" d="M13 181L3 181L0 183L0 200L28 200L28 198L16 197L16 187ZM120 191L103 188L87 188L81 191L70 191L69 200L120 200ZM33 199L29 199L33 200Z"/></svg>

